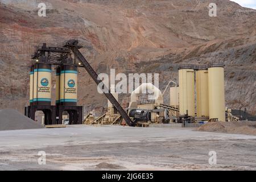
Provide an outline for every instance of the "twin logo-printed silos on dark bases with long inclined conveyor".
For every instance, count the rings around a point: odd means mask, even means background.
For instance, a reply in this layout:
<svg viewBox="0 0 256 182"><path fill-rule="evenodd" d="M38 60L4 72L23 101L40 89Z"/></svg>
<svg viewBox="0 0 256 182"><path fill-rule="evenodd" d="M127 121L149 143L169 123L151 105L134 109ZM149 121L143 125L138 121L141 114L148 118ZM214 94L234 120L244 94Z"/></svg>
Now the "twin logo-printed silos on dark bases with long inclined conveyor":
<svg viewBox="0 0 256 182"><path fill-rule="evenodd" d="M77 106L77 67L85 68L97 85L102 81L98 80L97 73L82 56L80 48L82 46L78 40L72 39L65 42L63 47L47 47L44 43L42 47L36 49L32 55L30 72L30 106L25 107L27 117L35 120L36 111L41 110L44 113L44 124L61 124L63 111L67 111L69 124L82 124L82 106ZM56 105L51 105L52 65L57 66ZM104 94L127 125L134 126L134 122L115 100L110 90Z"/></svg>

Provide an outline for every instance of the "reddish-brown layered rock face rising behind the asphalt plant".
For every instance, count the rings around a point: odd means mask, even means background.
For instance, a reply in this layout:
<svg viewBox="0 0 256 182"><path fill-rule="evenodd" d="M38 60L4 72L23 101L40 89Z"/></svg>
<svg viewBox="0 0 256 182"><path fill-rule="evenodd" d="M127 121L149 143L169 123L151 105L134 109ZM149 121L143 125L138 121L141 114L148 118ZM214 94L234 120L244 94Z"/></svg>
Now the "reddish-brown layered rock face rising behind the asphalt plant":
<svg viewBox="0 0 256 182"><path fill-rule="evenodd" d="M177 81L179 64L224 61L226 106L256 114L256 10L228 0L45 2L46 17L40 17L39 1L1 0L0 109L28 105L34 46L77 38L97 73L159 73L160 90ZM216 17L208 15L212 2ZM79 72L79 105L102 113L105 96L84 69ZM168 104L168 93L164 97ZM120 94L119 102L126 107L129 94Z"/></svg>

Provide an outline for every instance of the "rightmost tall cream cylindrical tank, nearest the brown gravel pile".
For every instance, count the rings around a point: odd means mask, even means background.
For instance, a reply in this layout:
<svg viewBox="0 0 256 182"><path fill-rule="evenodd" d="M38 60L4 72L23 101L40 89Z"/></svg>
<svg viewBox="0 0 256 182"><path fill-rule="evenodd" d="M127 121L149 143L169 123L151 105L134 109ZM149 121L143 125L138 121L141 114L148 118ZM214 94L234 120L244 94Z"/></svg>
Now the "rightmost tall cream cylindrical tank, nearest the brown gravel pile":
<svg viewBox="0 0 256 182"><path fill-rule="evenodd" d="M225 121L224 64L213 63L208 68L209 119Z"/></svg>

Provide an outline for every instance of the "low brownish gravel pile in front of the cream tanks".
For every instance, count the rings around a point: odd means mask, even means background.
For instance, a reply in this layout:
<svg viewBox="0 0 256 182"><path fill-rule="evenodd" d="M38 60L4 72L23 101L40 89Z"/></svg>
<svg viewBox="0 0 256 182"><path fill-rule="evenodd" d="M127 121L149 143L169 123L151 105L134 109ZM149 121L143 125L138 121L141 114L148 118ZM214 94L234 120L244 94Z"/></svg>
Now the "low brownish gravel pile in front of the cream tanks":
<svg viewBox="0 0 256 182"><path fill-rule="evenodd" d="M210 122L200 126L197 131L256 135L256 122Z"/></svg>

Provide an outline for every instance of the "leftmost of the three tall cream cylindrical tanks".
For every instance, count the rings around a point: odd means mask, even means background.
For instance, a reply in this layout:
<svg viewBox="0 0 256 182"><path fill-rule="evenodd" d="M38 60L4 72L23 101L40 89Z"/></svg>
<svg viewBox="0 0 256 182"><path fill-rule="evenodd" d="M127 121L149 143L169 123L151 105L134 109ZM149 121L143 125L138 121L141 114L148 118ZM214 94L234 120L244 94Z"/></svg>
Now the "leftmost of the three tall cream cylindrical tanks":
<svg viewBox="0 0 256 182"><path fill-rule="evenodd" d="M195 117L195 76L196 65L179 67L179 109L180 115Z"/></svg>

